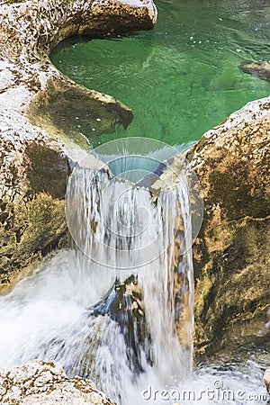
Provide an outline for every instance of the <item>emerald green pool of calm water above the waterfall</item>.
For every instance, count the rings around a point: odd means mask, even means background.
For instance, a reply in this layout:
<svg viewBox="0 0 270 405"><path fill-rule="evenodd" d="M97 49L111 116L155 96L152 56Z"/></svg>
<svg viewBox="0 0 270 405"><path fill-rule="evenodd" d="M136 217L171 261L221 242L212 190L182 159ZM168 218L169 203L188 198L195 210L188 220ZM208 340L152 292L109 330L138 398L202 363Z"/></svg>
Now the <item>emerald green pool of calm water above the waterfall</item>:
<svg viewBox="0 0 270 405"><path fill-rule="evenodd" d="M127 130L93 139L149 137L175 145L200 139L269 83L238 68L270 58L268 0L157 0L152 31L127 37L67 40L51 55L77 83L127 104Z"/></svg>

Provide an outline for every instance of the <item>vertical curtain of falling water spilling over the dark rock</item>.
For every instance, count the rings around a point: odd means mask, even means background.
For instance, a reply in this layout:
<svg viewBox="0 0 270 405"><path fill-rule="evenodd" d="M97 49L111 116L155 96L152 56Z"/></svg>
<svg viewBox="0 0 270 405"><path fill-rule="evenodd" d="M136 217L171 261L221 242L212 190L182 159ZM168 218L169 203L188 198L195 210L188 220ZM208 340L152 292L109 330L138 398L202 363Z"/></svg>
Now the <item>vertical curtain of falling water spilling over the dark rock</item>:
<svg viewBox="0 0 270 405"><path fill-rule="evenodd" d="M126 403L123 387L138 387L142 374L167 384L190 373L192 226L184 171L154 193L108 169L78 166L67 187L67 221L80 285L103 294L89 307L91 358L81 361L80 374Z"/></svg>

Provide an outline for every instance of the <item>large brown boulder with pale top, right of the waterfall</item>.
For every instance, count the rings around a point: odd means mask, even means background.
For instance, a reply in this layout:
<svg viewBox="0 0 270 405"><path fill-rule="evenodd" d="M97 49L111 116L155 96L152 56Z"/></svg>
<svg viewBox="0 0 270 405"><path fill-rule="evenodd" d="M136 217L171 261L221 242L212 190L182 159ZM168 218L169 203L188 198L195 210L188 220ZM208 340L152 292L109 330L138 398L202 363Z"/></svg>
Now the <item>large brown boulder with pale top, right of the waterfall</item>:
<svg viewBox="0 0 270 405"><path fill-rule="evenodd" d="M193 246L197 352L269 332L269 108L270 97L247 103L189 154L204 198Z"/></svg>

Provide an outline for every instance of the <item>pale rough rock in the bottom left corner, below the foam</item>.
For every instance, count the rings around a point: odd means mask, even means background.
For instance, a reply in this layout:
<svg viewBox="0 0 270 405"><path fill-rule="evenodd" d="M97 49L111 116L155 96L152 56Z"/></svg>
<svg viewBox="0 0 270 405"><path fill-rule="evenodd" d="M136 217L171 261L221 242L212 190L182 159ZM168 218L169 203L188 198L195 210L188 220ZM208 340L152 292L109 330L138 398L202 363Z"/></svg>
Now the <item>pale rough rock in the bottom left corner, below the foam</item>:
<svg viewBox="0 0 270 405"><path fill-rule="evenodd" d="M93 383L68 379L56 362L31 361L0 370L0 401L13 405L115 405Z"/></svg>

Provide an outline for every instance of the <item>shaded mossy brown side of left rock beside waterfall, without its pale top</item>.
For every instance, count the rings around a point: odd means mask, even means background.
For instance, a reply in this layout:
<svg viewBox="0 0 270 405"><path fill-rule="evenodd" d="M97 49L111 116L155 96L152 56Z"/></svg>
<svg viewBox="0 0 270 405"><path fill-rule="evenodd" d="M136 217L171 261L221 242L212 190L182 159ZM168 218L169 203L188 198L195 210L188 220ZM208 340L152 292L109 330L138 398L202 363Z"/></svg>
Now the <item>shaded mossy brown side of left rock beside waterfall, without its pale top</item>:
<svg viewBox="0 0 270 405"><path fill-rule="evenodd" d="M14 166L14 183L22 166ZM34 259L67 246L67 157L38 142L23 149L25 187L0 201L0 284L9 284Z"/></svg>

